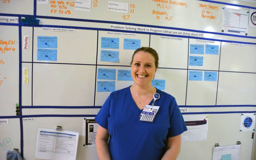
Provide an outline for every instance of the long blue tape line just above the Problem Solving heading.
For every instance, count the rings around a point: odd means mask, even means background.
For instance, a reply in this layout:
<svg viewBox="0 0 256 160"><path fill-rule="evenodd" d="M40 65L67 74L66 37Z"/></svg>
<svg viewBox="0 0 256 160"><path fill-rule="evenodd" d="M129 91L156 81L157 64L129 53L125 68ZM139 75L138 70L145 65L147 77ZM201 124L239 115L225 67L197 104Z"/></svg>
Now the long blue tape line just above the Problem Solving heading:
<svg viewBox="0 0 256 160"><path fill-rule="evenodd" d="M0 14L2 16L15 16L16 14ZM234 36L234 37L242 37L242 38L256 38L253 36L243 36L243 35L235 35L235 34L227 34L227 33L218 33L218 32L208 32L208 31L200 31L200 30L192 30L185 28L175 28L175 27L164 27L164 26L154 26L154 25L143 25L137 23L126 23L126 22L115 22L115 21L104 21L104 20L90 20L90 19L76 19L76 18L64 18L64 17L51 17L51 16L31 16L31 15L21 15L25 17L35 17L35 18L45 18L45 19L58 19L58 20L70 20L70 21L83 21L83 22L96 22L96 23L111 23L117 25L129 25L129 26L137 26L137 27L151 27L151 28L160 28L160 29L172 29L172 30L181 30L188 32L198 32L198 33L210 33L210 34L218 34L218 35L226 35L226 36ZM23 25L27 27L37 27L41 25ZM48 25L47 25L48 26ZM67 27L66 27L67 28ZM74 27L73 27L74 28ZM99 29L100 30L100 29ZM127 32L127 31L126 31ZM141 32L140 32L141 33ZM151 33L151 32L150 32ZM147 33L148 34L148 33Z"/></svg>

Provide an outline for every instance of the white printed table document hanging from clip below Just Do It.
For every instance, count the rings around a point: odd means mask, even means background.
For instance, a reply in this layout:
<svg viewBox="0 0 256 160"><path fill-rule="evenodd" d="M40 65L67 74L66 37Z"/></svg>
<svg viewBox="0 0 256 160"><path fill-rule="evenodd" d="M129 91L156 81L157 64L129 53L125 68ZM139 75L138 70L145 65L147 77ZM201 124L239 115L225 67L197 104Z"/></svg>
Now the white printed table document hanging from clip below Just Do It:
<svg viewBox="0 0 256 160"><path fill-rule="evenodd" d="M79 133L38 128L35 158L75 160Z"/></svg>

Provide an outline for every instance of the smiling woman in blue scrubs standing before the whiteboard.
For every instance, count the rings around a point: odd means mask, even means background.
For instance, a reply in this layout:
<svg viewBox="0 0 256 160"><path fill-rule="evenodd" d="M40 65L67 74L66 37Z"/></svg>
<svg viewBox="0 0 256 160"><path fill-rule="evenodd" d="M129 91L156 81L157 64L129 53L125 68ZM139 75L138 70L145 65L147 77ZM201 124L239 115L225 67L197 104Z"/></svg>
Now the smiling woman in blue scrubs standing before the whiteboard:
<svg viewBox="0 0 256 160"><path fill-rule="evenodd" d="M95 117L100 160L175 160L179 155L181 133L187 128L175 98L152 86L157 68L158 54L153 48L134 51L133 85L112 92ZM160 98L154 103L159 106L154 121L140 121L155 93Z"/></svg>

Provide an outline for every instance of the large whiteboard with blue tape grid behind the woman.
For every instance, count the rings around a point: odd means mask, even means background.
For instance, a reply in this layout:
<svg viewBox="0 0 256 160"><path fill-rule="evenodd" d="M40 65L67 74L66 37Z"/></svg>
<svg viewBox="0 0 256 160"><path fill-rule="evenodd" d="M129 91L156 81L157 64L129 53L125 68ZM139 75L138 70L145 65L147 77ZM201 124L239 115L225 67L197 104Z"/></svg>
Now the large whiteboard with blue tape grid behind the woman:
<svg viewBox="0 0 256 160"><path fill-rule="evenodd" d="M173 95L181 109L187 109L183 115L209 115L207 140L182 143L179 160L211 159L215 143L233 145L237 141L242 142L240 159L251 158L252 132L240 132L239 128L241 113L256 112L256 29L248 28L248 35L223 34L222 10L231 6L249 11L246 6L256 7L256 4L183 0L179 1L180 5L171 4L168 9L169 4L161 5L158 1L118 0L128 3L129 7L128 13L118 13L108 11L108 1L91 1L90 12L75 10L69 0L63 0L61 9L57 9L60 7L57 1L48 4L34 4L36 1L28 0L4 2L0 2L0 16L40 20L39 25L0 22L0 40L15 41L10 45L11 51L0 51L0 60L5 62L0 63L0 83L3 80L0 119L9 118L9 124L0 124L0 143L10 138L13 145L8 149L15 147L20 151L23 148L24 159L34 159L37 128L55 129L61 125L63 130L80 134L76 159L98 159L95 147L83 146L83 118L95 116L111 93L99 92L98 81L114 82L115 90L133 84L133 81L118 80L117 74L118 69L131 69L135 49L124 48L124 40L128 38L138 39L141 47L150 46L158 52L159 68L155 79L165 80L163 91ZM205 13L201 4L215 9ZM54 10L56 13L51 13ZM168 16L157 15L154 11ZM29 36L28 49L22 49L24 36ZM57 37L56 61L38 58L38 36ZM102 37L119 38L119 48L101 47ZM193 45L203 46L203 54L194 54ZM207 53L208 45L217 47L217 53ZM4 45L0 43L0 47ZM118 61L102 61L102 50L118 51ZM191 56L203 57L202 66L191 65ZM19 72L23 68L28 68L28 84L23 83L24 76ZM99 68L115 69L115 80L98 79ZM189 71L202 71L202 80L189 80ZM216 73L215 81L204 80L207 71ZM16 116L17 102L21 102L22 116L19 117ZM23 117L35 120L22 122ZM20 146L22 139L23 146ZM5 158L5 154L6 149L0 145L0 159Z"/></svg>

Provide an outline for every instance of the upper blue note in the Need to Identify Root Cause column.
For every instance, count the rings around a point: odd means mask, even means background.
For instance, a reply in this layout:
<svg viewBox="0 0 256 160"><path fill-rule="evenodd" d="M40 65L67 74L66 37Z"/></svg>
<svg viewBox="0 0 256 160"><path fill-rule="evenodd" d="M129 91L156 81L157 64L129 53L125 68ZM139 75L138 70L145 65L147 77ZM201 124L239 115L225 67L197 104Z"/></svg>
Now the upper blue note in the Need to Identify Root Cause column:
<svg viewBox="0 0 256 160"><path fill-rule="evenodd" d="M37 48L57 48L57 37L37 36Z"/></svg>

